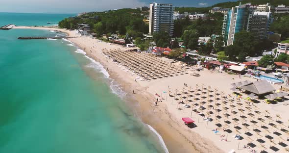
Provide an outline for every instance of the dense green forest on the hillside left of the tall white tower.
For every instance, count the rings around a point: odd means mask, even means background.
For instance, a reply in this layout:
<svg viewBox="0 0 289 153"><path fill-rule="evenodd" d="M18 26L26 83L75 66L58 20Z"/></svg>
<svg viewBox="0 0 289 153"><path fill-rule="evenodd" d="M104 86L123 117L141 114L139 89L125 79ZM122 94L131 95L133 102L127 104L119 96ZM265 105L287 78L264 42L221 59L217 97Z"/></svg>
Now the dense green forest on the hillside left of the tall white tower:
<svg viewBox="0 0 289 153"><path fill-rule="evenodd" d="M97 35L118 33L136 37L148 32L148 26L143 22L145 13L136 9L119 9L106 12L90 12L80 17L66 18L59 22L59 26L68 29L77 28L77 23L86 23L91 26ZM98 19L88 17L98 16Z"/></svg>

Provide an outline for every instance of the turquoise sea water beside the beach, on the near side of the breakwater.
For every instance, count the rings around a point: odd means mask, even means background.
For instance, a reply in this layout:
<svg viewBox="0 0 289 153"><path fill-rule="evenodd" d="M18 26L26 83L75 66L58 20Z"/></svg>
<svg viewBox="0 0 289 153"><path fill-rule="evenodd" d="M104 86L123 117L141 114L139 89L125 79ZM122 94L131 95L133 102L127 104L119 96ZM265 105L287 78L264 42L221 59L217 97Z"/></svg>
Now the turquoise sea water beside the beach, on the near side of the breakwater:
<svg viewBox="0 0 289 153"><path fill-rule="evenodd" d="M99 63L63 39L16 39L54 35L0 30L0 153L164 153Z"/></svg>

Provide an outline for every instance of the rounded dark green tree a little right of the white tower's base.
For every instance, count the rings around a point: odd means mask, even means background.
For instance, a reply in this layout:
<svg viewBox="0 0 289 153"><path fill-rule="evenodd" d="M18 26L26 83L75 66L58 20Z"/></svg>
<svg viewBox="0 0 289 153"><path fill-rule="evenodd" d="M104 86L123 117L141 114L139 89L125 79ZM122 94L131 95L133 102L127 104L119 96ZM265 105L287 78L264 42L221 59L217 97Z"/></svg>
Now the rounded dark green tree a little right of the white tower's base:
<svg viewBox="0 0 289 153"><path fill-rule="evenodd" d="M184 34L182 35L182 39L186 48L193 50L197 48L199 34L196 32L196 30L185 30Z"/></svg>

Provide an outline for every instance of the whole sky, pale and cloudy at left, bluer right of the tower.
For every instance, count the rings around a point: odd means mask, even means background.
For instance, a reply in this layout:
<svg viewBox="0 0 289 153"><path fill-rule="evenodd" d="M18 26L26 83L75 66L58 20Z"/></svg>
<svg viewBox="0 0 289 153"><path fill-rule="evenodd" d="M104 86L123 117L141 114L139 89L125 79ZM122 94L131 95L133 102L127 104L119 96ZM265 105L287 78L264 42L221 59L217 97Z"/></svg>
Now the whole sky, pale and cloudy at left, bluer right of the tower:
<svg viewBox="0 0 289 153"><path fill-rule="evenodd" d="M179 7L207 7L236 0L1 0L0 12L79 13L148 6L151 2L172 3Z"/></svg>

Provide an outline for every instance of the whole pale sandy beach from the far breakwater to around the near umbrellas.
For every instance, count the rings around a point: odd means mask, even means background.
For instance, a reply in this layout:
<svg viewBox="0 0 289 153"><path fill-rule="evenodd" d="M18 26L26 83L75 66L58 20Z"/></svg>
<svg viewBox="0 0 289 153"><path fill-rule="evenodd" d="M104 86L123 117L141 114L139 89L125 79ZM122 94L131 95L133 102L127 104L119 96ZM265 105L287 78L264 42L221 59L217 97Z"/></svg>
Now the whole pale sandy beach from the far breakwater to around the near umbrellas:
<svg viewBox="0 0 289 153"><path fill-rule="evenodd" d="M153 79L151 81L143 81L143 80L135 81L135 79L138 77L136 74L133 74L133 72L131 72L124 66L113 62L112 59L109 59L103 53L103 51L109 51L109 50L114 50L114 51L129 50L125 47L111 44L111 43L105 43L97 39L92 39L90 37L81 37L75 34L75 31L70 31L66 29L49 28L49 27L28 27L28 26L25 26L25 27L16 26L14 28L58 30L58 31L67 33L69 36L77 37L77 38L70 38L69 40L72 43L74 43L76 46L84 50L89 57L100 62L107 69L110 77L120 84L123 91L128 93L125 99L128 105L131 107L133 111L135 111L135 114L137 114L137 116L141 118L141 120L145 124L152 126L154 129L157 130L158 133L160 133L170 153L181 153L181 152L182 153L228 153L232 149L234 149L236 153L249 153L250 152L248 149L242 148L244 145L248 143L247 139L244 138L243 140L236 140L234 137L236 135L236 132L244 133L245 130L243 128L241 130L237 130L237 131L234 130L231 133L227 133L223 131L222 130L223 127L221 127L218 129L218 133L217 132L214 133L212 130L216 128L215 121L213 122L204 121L205 117L200 117L197 113L194 113L192 108L191 109L185 108L183 104L178 104L179 101L175 100L176 96L171 97L169 95L177 94L177 93L185 93L184 90L191 91L191 89L195 93L198 92L202 95L203 90L206 90L206 92L208 93L208 94L206 93L208 95L207 99L209 101L209 94L210 94L209 89L212 89L212 95L213 93L217 92L219 94L218 95L219 100L216 100L216 99L214 100L213 98L211 100L217 101L222 104L223 102L222 97L226 97L227 99L227 96L228 97L232 96L233 91L230 90L230 88L232 88L231 86L232 83L245 81L245 80L253 82L253 81L256 81L256 79L249 78L249 77L240 78L237 75L229 75L225 72L219 73L216 71L213 72L209 70L203 70L203 71L197 72L200 75L200 77L194 77L192 76L192 73L195 71L193 71L193 68L188 68L186 70L188 73L183 74L183 75L163 77L163 78ZM158 60L163 60L160 57L157 57L157 58ZM184 83L186 83L187 85L185 86ZM274 84L273 86L275 89L280 88L280 85ZM132 91L134 91L135 94L132 94ZM160 96L158 97L155 94L158 94ZM189 94L187 95L189 97ZM187 99L189 99L188 97ZM158 102L157 106L154 105L156 98L162 100L162 102ZM202 98L200 97L200 99ZM207 105L207 104L204 104L204 105ZM224 105L223 108L229 107L228 105L229 104ZM275 118L276 118L276 121L279 120L277 118L277 115L280 115L279 118L282 119L284 124L285 123L286 125L288 124L287 123L287 121L289 120L289 116L287 115L288 105L285 106L282 103L269 105L264 102L260 102L255 105L244 104L243 106L240 106L239 108L245 109L245 106L250 107L248 108L248 110L246 110L247 114L249 114L250 112L254 113L256 112L256 110L260 111L261 113L266 113L267 112L266 110L268 110L270 113L270 116L272 117L271 119L272 122L275 121ZM232 108L230 107L228 109L229 109L228 111L229 113L230 111L231 113L233 111L238 111L237 109L233 107ZM212 111L214 111L214 108L212 109ZM207 114L205 114L205 116L206 115ZM228 118L230 118L230 121L231 121L232 119L234 119L234 117L237 118L239 116L241 115L237 114L236 116L233 115L233 117L228 117ZM262 118L262 116L264 115L260 114L258 118ZM195 121L195 124L197 127L194 127L194 128L187 127L181 120L182 117L191 117ZM238 124L240 124L238 126L241 127L243 123L241 123L240 121L238 122ZM235 128L235 126L231 128ZM255 126L261 127L262 123L261 125L259 125L259 123L252 125L252 127L255 127ZM276 129L274 129L274 132L280 129L284 129L284 128L277 127ZM254 130L254 129L255 128L250 129L250 130ZM270 134L271 131L268 130L268 132ZM263 133L260 132L259 135L261 138L261 136L263 137L265 134L263 135ZM224 139L224 137L226 138L227 141L222 140ZM277 136L273 136L273 137L274 137L274 141L275 141L275 138L276 140L280 141L280 140L286 139L287 135L283 134L279 137ZM271 144L272 143L278 144L277 141L271 142ZM284 143L288 144L285 141ZM271 144L264 143L264 145L260 144L261 147L259 145L257 147L258 148L265 147L266 149L264 150L268 151L268 147L270 147ZM261 151L258 149L256 150L258 152ZM278 153L282 153L282 152L285 152L285 150L280 148Z"/></svg>

